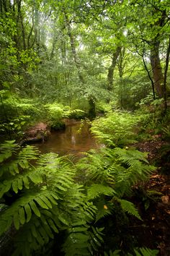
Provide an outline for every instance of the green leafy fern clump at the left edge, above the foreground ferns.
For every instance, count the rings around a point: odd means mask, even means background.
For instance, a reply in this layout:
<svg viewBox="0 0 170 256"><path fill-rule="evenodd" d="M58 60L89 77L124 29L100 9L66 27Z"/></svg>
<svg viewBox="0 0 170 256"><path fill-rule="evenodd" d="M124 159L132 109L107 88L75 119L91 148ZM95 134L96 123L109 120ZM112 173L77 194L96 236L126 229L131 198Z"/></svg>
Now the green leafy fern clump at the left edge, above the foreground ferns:
<svg viewBox="0 0 170 256"><path fill-rule="evenodd" d="M0 132L12 138L22 136L28 122L42 119L43 108L40 103L27 98L19 98L9 89L0 90Z"/></svg>

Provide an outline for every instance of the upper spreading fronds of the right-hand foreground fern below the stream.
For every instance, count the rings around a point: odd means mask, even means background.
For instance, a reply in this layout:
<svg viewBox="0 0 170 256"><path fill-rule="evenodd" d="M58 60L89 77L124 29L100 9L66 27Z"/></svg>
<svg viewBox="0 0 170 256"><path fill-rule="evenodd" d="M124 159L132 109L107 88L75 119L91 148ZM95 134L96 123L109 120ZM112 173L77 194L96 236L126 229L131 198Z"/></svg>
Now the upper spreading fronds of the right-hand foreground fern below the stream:
<svg viewBox="0 0 170 256"><path fill-rule="evenodd" d="M148 165L146 153L134 149L103 148L99 153L86 153L77 164L79 170L86 171L87 184L97 182L107 184L122 197L138 182L145 181L155 170Z"/></svg>

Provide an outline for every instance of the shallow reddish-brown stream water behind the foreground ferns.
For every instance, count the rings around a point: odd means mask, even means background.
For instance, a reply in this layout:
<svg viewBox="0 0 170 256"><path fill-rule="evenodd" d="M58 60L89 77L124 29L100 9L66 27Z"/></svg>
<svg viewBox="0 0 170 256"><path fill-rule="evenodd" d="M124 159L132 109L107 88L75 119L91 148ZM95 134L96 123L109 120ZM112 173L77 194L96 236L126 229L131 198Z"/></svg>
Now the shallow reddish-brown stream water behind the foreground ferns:
<svg viewBox="0 0 170 256"><path fill-rule="evenodd" d="M77 154L91 148L99 148L99 144L89 131L89 125L85 123L79 132L80 126L80 121L67 124L65 130L51 132L44 144L36 143L35 146L41 153L53 152L59 155Z"/></svg>

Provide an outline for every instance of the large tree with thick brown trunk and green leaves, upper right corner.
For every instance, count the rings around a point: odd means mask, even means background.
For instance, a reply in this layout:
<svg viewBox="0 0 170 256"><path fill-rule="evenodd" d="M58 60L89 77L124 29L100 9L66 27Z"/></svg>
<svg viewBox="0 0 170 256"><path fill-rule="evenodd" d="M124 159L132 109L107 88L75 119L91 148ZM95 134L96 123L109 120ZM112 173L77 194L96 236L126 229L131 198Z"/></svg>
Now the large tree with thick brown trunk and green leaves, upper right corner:
<svg viewBox="0 0 170 256"><path fill-rule="evenodd" d="M164 97L162 65L165 66L165 59L161 60L160 56L164 54L163 45L169 38L168 6L168 1L131 1L130 4L127 3L131 22L134 22L133 25L128 25L131 26L129 35L133 38L137 51L142 51L143 54L150 52L151 77L153 77L154 88L159 98Z"/></svg>

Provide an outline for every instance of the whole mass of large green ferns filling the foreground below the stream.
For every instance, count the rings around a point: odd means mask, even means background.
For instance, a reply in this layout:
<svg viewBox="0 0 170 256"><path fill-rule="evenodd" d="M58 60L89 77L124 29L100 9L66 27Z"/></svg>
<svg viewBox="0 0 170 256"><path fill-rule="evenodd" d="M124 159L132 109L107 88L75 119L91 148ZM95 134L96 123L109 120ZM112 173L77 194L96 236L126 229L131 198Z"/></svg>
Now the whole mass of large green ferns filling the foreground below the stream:
<svg viewBox="0 0 170 256"><path fill-rule="evenodd" d="M39 156L36 148L19 148L14 141L0 148L1 240L10 235L13 244L6 255L53 255L56 248L61 255L110 255L110 249L113 255L116 249L135 255L133 246L123 242L120 248L125 234L119 229L130 216L141 221L127 196L154 169L145 154L104 148L75 164L54 153ZM105 243L110 218L117 219L118 228L112 244Z"/></svg>

